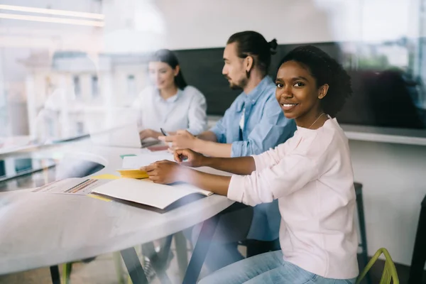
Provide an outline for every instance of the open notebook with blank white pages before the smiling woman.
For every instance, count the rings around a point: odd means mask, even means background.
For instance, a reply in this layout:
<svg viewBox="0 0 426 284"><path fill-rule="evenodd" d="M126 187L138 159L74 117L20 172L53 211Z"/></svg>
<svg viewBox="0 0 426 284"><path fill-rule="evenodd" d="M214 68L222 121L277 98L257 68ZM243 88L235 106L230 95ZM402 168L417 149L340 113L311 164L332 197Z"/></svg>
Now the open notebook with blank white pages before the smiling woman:
<svg viewBox="0 0 426 284"><path fill-rule="evenodd" d="M94 188L92 193L113 197L116 200L136 202L162 210L171 209L177 203L212 195L212 192L202 190L187 183L159 185L150 180L120 178Z"/></svg>

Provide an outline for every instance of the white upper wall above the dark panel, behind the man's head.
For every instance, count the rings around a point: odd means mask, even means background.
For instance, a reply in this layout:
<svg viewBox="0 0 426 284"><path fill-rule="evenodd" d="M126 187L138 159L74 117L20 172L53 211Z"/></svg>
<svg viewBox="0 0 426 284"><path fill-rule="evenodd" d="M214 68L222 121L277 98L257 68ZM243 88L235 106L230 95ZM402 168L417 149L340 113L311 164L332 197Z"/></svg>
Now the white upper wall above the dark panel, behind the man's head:
<svg viewBox="0 0 426 284"><path fill-rule="evenodd" d="M415 36L417 1L158 0L155 5L164 19L167 48L187 49L224 46L229 35L245 30L278 43Z"/></svg>

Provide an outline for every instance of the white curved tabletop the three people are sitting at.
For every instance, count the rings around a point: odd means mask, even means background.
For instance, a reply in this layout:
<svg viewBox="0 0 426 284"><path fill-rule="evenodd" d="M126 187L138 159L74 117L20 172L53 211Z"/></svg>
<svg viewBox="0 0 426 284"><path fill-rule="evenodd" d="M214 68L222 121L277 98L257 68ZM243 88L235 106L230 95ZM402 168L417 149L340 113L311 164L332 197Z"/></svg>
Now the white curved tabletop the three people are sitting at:
<svg viewBox="0 0 426 284"><path fill-rule="evenodd" d="M62 155L64 159L78 157L101 163L105 168L96 173L99 175L117 174L115 169L121 166L119 155L140 152L141 149L135 148L77 143L26 154L38 158ZM58 167L59 171L66 169L66 166ZM1 192L0 274L133 248L211 219L233 203L226 197L212 195L160 214L87 196L40 194L29 190ZM204 261L204 257L200 259ZM198 268L195 273L197 271L200 273Z"/></svg>

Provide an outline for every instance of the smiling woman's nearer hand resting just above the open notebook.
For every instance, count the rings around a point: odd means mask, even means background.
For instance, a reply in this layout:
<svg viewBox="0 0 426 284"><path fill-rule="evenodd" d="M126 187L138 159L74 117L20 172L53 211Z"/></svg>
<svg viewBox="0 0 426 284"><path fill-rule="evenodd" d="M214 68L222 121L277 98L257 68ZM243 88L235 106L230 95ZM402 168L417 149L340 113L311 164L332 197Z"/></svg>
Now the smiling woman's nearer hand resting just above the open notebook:
<svg viewBox="0 0 426 284"><path fill-rule="evenodd" d="M146 171L149 179L153 182L168 185L173 182L185 180L188 168L170 160L160 160L142 167L141 170Z"/></svg>

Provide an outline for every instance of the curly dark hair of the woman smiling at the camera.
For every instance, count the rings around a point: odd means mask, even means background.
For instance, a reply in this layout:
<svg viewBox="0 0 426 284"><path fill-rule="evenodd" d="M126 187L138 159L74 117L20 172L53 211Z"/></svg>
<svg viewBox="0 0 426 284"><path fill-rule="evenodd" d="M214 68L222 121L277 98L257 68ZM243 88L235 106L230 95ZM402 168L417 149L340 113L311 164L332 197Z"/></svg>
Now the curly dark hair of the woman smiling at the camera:
<svg viewBox="0 0 426 284"><path fill-rule="evenodd" d="M352 94L351 77L342 65L313 45L303 45L293 49L280 61L279 67L288 61L299 62L317 80L317 87L328 84L327 95L321 99L322 110L329 116L336 116L346 99ZM279 69L278 67L278 69Z"/></svg>

